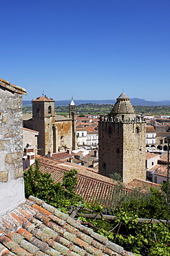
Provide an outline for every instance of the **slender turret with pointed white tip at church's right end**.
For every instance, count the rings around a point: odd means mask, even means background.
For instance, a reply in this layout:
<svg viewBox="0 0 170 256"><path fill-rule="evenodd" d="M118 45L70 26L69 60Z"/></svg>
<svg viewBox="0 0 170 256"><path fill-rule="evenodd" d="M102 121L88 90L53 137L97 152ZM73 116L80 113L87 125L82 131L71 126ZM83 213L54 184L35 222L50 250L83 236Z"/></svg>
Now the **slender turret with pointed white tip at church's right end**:
<svg viewBox="0 0 170 256"><path fill-rule="evenodd" d="M70 118L72 118L72 150L77 149L76 139L76 104L74 103L73 97L69 104L70 107Z"/></svg>

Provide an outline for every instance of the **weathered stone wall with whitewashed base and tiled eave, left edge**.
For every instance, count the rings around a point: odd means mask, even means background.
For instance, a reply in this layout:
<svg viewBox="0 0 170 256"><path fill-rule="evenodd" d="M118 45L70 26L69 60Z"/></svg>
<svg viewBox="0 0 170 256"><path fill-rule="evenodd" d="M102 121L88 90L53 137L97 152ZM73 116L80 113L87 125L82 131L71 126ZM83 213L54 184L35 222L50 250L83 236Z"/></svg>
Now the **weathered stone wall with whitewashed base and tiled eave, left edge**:
<svg viewBox="0 0 170 256"><path fill-rule="evenodd" d="M0 79L0 215L23 201L22 94L25 89Z"/></svg>

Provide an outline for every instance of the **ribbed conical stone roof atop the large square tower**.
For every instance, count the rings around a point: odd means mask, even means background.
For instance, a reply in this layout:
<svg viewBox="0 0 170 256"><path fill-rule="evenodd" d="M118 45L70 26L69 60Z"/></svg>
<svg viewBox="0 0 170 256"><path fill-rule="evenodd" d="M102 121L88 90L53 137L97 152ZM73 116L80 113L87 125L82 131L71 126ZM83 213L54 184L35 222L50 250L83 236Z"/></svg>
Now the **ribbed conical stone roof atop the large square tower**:
<svg viewBox="0 0 170 256"><path fill-rule="evenodd" d="M127 120L129 118L134 119L136 117L130 99L125 93L121 93L116 99L116 103L110 112L110 116L121 120Z"/></svg>

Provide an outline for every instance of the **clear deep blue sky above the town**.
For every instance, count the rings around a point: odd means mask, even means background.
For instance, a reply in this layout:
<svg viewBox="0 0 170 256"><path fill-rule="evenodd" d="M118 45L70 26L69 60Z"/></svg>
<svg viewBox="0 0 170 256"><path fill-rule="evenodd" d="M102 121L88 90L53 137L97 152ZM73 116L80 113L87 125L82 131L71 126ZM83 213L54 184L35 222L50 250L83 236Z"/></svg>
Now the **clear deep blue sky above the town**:
<svg viewBox="0 0 170 256"><path fill-rule="evenodd" d="M0 77L23 100L169 100L169 0L1 0Z"/></svg>

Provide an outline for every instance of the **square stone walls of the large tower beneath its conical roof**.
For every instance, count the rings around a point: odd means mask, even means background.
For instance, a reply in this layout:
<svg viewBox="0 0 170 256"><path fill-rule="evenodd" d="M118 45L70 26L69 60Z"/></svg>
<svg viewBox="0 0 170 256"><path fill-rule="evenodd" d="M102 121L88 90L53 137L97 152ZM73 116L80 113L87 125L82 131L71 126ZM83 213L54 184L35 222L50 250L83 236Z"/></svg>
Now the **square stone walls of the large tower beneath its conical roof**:
<svg viewBox="0 0 170 256"><path fill-rule="evenodd" d="M119 173L125 183L145 180L145 136L145 122L99 122L99 173Z"/></svg>

